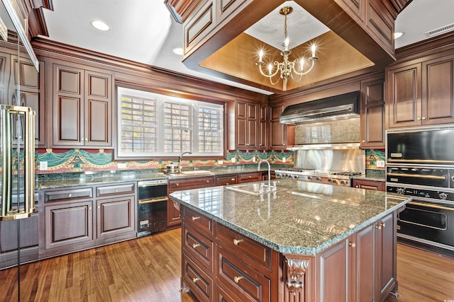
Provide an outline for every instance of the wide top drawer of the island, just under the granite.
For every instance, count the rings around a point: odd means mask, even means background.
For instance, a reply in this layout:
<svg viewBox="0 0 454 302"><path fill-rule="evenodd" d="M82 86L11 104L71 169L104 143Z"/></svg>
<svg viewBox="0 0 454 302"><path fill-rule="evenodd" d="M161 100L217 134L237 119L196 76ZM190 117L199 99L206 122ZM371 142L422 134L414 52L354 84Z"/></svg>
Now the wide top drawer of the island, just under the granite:
<svg viewBox="0 0 454 302"><path fill-rule="evenodd" d="M217 224L217 235L220 244L227 249L231 249L241 255L243 261L250 263L256 263L260 267L271 270L272 267L272 250L265 245L258 243L248 237L241 235L235 231L232 231L221 224ZM250 265L253 265L250 263Z"/></svg>

